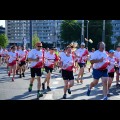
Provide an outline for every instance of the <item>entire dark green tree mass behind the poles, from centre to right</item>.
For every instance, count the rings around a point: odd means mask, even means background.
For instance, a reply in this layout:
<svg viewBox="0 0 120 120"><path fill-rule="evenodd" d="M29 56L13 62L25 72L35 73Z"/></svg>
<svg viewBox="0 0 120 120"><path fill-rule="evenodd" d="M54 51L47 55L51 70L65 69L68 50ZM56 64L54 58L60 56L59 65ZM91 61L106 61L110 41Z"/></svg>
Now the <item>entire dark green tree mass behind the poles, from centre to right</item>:
<svg viewBox="0 0 120 120"><path fill-rule="evenodd" d="M61 24L61 39L64 42L72 41L81 42L81 23L77 20L64 20ZM88 39L92 39L93 43L88 42L89 50L97 49L98 42L102 41L103 20L89 20ZM111 44L112 25L111 20L105 20L105 43L106 50L113 49ZM84 38L87 38L87 20L84 20Z"/></svg>

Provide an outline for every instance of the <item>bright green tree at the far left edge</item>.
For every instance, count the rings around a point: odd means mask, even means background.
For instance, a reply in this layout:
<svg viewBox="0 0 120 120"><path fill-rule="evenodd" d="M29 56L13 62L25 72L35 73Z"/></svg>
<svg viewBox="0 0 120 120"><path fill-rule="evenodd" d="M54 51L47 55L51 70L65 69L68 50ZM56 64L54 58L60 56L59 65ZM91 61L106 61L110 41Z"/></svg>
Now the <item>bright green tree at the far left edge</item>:
<svg viewBox="0 0 120 120"><path fill-rule="evenodd" d="M9 44L9 40L8 37L6 36L6 34L1 34L0 35L0 46L2 48L6 48Z"/></svg>

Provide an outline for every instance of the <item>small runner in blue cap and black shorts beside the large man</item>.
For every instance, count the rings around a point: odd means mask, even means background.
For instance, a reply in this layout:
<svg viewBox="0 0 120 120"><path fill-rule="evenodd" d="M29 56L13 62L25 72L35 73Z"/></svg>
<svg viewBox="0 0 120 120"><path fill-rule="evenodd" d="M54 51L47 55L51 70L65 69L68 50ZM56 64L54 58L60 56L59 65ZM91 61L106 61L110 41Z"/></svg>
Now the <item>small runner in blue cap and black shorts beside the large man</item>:
<svg viewBox="0 0 120 120"><path fill-rule="evenodd" d="M114 57L114 50L110 50L109 51L109 56L108 56L108 60L110 62L110 64L108 65L108 76L109 76L109 79L108 79L108 93L107 95L110 96L109 94L109 89L111 87L111 84L113 82L113 79L114 79L114 72L115 72L115 65L117 64L117 61Z"/></svg>

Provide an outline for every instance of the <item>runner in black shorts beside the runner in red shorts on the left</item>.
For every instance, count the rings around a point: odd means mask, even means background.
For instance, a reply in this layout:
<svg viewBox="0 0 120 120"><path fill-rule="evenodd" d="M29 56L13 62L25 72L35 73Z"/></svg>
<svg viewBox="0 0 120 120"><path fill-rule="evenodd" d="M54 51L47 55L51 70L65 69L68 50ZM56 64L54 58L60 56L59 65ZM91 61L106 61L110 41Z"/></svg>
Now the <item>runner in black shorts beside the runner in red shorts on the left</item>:
<svg viewBox="0 0 120 120"><path fill-rule="evenodd" d="M25 65L26 65L26 58L27 58L27 52L25 51L24 46L21 47L21 50L18 52L19 57L19 71L20 71L20 78L25 77Z"/></svg>

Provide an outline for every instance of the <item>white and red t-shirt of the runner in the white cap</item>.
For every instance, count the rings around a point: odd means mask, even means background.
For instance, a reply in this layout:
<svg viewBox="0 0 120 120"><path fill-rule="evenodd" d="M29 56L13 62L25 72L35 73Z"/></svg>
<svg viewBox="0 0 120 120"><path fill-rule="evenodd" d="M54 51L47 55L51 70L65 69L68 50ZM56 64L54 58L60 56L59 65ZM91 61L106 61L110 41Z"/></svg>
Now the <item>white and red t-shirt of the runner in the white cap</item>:
<svg viewBox="0 0 120 120"><path fill-rule="evenodd" d="M86 62L86 60L88 58L88 50L86 48L83 48L83 49L79 48L79 49L77 49L75 51L75 54L80 57L80 58L79 57L76 58L78 63L85 63Z"/></svg>

